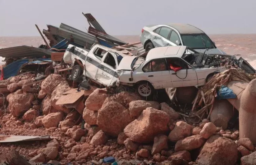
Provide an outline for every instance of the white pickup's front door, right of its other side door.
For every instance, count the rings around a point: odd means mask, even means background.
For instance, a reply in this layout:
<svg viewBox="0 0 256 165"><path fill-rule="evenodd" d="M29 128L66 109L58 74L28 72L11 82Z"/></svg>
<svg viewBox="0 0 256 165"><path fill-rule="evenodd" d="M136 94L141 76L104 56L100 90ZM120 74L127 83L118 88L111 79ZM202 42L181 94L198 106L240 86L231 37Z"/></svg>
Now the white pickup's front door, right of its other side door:
<svg viewBox="0 0 256 165"><path fill-rule="evenodd" d="M104 84L110 86L117 79L117 60L111 52L107 52L98 67L95 79Z"/></svg>

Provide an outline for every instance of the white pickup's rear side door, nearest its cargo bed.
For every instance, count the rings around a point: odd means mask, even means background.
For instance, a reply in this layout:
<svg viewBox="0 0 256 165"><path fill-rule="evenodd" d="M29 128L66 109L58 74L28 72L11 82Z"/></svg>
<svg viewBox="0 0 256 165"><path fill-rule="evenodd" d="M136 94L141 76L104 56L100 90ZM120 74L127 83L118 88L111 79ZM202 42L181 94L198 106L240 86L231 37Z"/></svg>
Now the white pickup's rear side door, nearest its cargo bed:
<svg viewBox="0 0 256 165"><path fill-rule="evenodd" d="M95 79L98 67L100 66L101 59L104 55L106 50L94 47L86 57L85 61L85 72L86 76L92 79Z"/></svg>

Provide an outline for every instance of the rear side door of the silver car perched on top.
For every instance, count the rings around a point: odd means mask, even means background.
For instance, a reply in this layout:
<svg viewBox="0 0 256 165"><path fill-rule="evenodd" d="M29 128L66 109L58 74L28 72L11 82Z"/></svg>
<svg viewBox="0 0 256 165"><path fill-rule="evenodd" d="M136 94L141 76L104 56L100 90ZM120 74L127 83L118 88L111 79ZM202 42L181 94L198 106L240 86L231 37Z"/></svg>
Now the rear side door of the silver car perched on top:
<svg viewBox="0 0 256 165"><path fill-rule="evenodd" d="M162 46L170 46L169 43L169 36L171 34L171 29L166 26L158 27L154 30L154 36L152 38L152 43L155 47L162 47Z"/></svg>

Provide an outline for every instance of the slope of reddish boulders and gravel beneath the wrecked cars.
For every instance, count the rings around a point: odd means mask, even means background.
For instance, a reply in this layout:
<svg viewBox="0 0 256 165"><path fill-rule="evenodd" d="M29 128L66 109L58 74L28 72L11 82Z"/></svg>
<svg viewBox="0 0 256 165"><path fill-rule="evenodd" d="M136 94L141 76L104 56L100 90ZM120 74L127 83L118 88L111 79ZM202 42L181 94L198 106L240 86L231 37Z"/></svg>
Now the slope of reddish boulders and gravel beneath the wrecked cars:
<svg viewBox="0 0 256 165"><path fill-rule="evenodd" d="M0 84L0 134L53 137L1 143L1 150L14 149L30 164L104 164L110 158L117 164L256 163L253 143L239 139L235 128L223 130L207 119L191 125L167 103L129 92L110 95L93 86L82 91L83 106L67 108L57 101L71 90L69 83L58 74L36 83L35 76L27 73Z"/></svg>

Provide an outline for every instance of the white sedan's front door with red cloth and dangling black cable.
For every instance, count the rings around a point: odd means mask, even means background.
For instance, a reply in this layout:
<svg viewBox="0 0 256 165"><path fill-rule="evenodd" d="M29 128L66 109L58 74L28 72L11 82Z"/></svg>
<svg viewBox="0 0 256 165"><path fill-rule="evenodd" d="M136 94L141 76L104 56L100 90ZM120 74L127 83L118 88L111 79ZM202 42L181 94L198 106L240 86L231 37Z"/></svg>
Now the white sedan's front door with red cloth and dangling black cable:
<svg viewBox="0 0 256 165"><path fill-rule="evenodd" d="M181 58L167 58L173 87L197 86L198 79L196 71ZM174 71L171 66L180 67L180 70Z"/></svg>

